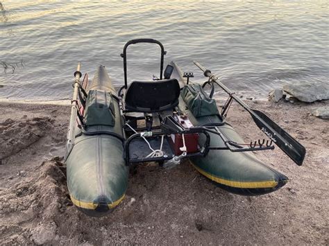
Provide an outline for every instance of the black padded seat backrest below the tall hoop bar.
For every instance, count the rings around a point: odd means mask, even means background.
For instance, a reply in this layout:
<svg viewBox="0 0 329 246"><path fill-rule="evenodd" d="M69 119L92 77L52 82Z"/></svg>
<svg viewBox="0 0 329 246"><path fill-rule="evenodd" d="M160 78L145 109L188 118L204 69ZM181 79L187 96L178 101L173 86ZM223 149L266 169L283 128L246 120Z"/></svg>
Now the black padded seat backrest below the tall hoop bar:
<svg viewBox="0 0 329 246"><path fill-rule="evenodd" d="M126 110L131 112L162 112L178 105L180 93L176 79L133 81L126 92Z"/></svg>

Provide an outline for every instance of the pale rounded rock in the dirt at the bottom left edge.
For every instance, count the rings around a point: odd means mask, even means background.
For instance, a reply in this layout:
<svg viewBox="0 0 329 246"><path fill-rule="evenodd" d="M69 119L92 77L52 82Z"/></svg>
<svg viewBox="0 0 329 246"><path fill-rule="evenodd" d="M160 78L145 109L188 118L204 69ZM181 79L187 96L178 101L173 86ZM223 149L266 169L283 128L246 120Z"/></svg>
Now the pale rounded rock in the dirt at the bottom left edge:
<svg viewBox="0 0 329 246"><path fill-rule="evenodd" d="M38 225L32 231L32 239L37 245L49 244L56 237L56 230L55 222Z"/></svg>

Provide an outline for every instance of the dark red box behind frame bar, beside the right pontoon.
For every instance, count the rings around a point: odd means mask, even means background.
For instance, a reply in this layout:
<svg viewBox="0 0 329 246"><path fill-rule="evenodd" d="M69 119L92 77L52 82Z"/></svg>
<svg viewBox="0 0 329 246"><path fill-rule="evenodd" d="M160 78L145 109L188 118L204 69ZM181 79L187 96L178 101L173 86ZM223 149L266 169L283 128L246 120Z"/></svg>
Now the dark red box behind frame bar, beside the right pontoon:
<svg viewBox="0 0 329 246"><path fill-rule="evenodd" d="M199 134L198 133L191 133L191 134L184 134L185 138L185 146L187 149L187 153L195 153L199 151L198 148L198 140ZM183 147L183 137L181 134L171 134L171 144L174 148L174 154L180 155L182 151L180 148Z"/></svg>

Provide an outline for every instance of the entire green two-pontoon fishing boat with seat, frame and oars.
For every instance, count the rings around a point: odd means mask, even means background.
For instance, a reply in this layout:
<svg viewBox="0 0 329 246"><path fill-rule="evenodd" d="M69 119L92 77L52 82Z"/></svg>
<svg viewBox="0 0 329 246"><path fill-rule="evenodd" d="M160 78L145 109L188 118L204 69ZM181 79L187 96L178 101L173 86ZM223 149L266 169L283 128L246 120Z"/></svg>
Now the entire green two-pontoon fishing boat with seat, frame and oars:
<svg viewBox="0 0 329 246"><path fill-rule="evenodd" d="M137 43L158 44L160 76L151 81L127 81L127 48ZM67 186L72 202L90 216L103 216L124 199L131 164L156 161L174 168L182 159L228 192L262 195L278 190L288 178L264 164L253 151L273 150L276 144L301 165L305 148L264 113L251 109L210 70L194 62L208 77L192 83L175 62L163 72L166 51L155 39L133 39L124 46L124 85L118 93L101 66L94 79L80 82L74 75L74 98L67 134ZM163 78L162 78L163 77ZM210 85L208 94L203 88ZM229 95L221 108L212 98L214 85ZM251 114L268 139L244 143L226 122L233 100Z"/></svg>

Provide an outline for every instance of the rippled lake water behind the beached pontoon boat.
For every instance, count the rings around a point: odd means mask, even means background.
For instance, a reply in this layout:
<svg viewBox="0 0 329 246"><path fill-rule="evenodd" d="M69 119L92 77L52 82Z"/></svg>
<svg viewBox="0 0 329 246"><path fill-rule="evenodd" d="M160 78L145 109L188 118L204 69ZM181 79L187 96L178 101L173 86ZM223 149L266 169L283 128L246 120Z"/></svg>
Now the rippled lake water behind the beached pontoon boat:
<svg viewBox="0 0 329 246"><path fill-rule="evenodd" d="M328 1L0 0L0 98L71 98L78 61L90 78L104 64L122 85L129 39L159 39L202 81L197 60L231 89L264 98L287 83L328 82ZM128 81L158 74L156 46L128 49ZM1 65L0 65L1 66Z"/></svg>

